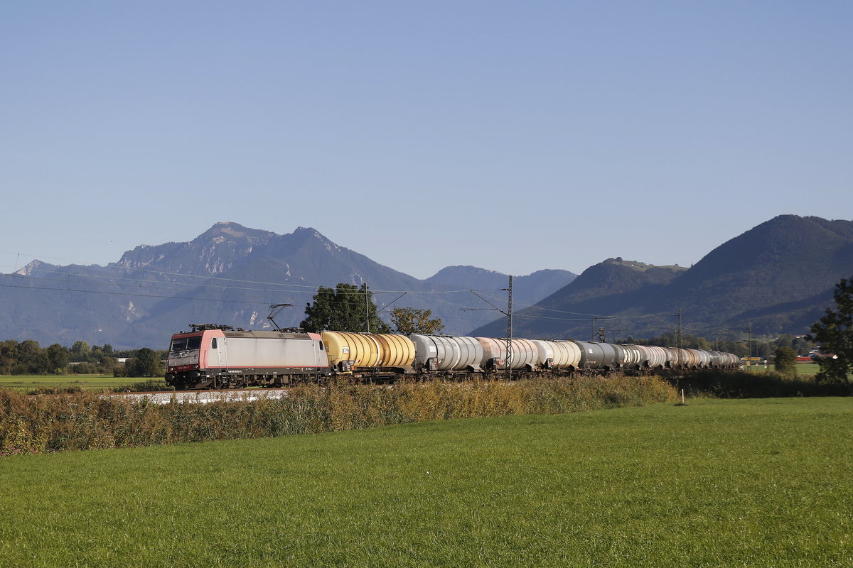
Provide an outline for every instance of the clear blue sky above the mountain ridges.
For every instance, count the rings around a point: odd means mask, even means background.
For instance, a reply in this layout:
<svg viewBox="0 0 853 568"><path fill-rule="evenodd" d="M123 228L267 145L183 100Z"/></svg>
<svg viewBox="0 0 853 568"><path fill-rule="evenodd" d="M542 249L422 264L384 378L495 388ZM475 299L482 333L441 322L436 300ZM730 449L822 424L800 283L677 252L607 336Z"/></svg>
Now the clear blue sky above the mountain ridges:
<svg viewBox="0 0 853 568"><path fill-rule="evenodd" d="M850 2L7 2L0 273L217 221L427 278L853 219Z"/></svg>

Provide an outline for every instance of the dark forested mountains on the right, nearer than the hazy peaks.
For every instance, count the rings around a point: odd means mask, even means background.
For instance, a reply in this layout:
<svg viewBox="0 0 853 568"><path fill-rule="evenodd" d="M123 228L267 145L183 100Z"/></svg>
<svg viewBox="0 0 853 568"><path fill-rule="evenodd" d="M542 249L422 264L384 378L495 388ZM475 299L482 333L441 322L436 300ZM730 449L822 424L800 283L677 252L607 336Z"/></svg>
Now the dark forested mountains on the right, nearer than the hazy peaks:
<svg viewBox="0 0 853 568"><path fill-rule="evenodd" d="M853 276L853 221L780 215L711 250L693 267L608 259L514 313L514 336L648 337L805 334ZM505 334L505 318L473 330ZM607 331L609 330L609 332Z"/></svg>

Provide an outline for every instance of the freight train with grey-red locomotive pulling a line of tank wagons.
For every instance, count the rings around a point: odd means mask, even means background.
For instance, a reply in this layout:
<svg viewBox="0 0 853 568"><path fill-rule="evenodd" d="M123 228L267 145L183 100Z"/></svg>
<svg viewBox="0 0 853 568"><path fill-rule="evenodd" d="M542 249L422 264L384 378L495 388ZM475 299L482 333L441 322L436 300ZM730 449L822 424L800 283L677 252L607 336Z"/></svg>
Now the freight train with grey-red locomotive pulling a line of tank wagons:
<svg viewBox="0 0 853 568"><path fill-rule="evenodd" d="M604 341L514 338L508 351L506 339L492 337L190 328L171 336L166 360L165 382L179 391L287 387L334 377L394 382L740 367L733 353Z"/></svg>

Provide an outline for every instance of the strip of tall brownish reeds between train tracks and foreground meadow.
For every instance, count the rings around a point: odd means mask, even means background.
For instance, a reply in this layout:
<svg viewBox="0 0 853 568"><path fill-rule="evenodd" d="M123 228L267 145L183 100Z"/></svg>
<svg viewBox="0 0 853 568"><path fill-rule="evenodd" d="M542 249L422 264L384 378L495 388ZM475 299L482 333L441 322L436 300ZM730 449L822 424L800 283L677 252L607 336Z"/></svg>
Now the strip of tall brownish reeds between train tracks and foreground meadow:
<svg viewBox="0 0 853 568"><path fill-rule="evenodd" d="M558 414L674 400L656 377L519 382L339 383L282 399L152 404L95 393L25 396L0 390L0 455L322 433L409 422Z"/></svg>

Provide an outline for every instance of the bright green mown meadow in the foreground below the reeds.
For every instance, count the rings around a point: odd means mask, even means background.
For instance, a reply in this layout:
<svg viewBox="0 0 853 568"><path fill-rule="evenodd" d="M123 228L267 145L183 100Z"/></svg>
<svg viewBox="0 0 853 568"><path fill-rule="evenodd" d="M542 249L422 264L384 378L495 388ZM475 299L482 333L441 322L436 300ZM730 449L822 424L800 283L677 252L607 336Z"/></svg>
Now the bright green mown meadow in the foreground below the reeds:
<svg viewBox="0 0 853 568"><path fill-rule="evenodd" d="M853 399L0 459L3 566L849 566Z"/></svg>

